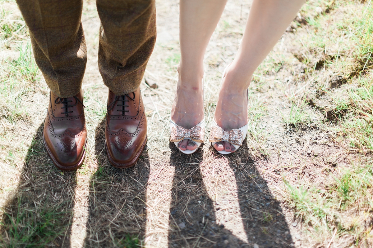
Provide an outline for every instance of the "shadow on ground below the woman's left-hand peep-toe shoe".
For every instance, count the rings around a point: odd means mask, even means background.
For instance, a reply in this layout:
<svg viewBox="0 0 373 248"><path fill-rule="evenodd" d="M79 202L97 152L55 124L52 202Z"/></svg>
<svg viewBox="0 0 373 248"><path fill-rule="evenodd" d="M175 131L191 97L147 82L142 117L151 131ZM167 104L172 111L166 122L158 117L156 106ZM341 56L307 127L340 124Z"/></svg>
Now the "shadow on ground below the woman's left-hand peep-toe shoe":
<svg viewBox="0 0 373 248"><path fill-rule="evenodd" d="M185 155L170 144L170 164L175 167L169 216L169 247L241 247L231 231L216 223L213 200L203 183L202 146ZM229 238L229 241L228 241Z"/></svg>

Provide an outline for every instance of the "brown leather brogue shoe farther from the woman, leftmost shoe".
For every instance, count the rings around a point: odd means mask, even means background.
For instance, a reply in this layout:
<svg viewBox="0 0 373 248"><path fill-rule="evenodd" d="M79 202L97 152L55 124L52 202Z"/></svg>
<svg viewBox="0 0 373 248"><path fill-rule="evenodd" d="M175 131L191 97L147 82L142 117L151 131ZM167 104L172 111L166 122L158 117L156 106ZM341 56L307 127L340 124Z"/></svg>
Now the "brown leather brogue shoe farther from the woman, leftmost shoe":
<svg viewBox="0 0 373 248"><path fill-rule="evenodd" d="M54 165L62 171L82 166L87 144L87 130L82 90L69 98L60 98L50 91L48 114L43 138Z"/></svg>

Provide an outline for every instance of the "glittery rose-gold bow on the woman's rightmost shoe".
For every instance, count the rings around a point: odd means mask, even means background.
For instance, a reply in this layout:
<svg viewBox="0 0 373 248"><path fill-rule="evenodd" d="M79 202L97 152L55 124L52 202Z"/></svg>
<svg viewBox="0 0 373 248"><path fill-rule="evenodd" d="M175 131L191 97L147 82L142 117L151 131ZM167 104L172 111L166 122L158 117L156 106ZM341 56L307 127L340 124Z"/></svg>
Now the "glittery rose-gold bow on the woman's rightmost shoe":
<svg viewBox="0 0 373 248"><path fill-rule="evenodd" d="M231 131L224 131L219 126L211 127L210 142L228 141L233 145L242 145L244 141L244 132L239 129L232 129Z"/></svg>

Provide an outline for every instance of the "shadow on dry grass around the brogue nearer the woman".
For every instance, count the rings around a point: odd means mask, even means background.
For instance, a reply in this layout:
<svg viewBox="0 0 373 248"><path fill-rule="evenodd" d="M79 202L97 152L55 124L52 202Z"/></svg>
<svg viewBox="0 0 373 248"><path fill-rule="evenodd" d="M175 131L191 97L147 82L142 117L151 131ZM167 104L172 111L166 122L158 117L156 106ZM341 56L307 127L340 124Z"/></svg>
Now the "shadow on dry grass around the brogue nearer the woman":
<svg viewBox="0 0 373 248"><path fill-rule="evenodd" d="M83 247L137 247L144 240L148 152L142 152L134 167L114 168L106 154L104 118L95 130L95 157L98 168L89 184Z"/></svg>

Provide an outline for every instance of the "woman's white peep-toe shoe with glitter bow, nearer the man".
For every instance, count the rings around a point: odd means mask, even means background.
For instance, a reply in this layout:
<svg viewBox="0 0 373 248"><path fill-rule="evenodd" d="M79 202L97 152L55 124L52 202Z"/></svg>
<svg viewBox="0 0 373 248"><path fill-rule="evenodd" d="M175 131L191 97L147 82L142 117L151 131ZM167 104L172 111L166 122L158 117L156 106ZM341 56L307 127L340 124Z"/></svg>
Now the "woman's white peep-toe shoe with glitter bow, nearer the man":
<svg viewBox="0 0 373 248"><path fill-rule="evenodd" d="M177 125L175 122L173 122L173 120L170 119L170 141L173 142L182 153L192 154L197 151L197 149L204 141L205 127L206 123L204 119L191 129L185 129L182 126ZM190 139L191 141L193 141L197 145L197 148L195 148L194 150L186 149L185 151L180 149L178 147L178 144L184 139Z"/></svg>

